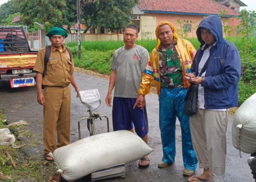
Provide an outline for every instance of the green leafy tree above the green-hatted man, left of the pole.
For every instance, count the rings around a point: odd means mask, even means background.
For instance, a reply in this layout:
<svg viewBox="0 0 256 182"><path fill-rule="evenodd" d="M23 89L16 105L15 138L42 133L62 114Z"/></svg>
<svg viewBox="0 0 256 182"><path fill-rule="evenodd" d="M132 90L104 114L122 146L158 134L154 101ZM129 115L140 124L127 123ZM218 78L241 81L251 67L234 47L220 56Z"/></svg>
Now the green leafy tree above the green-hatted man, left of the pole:
<svg viewBox="0 0 256 182"><path fill-rule="evenodd" d="M50 27L62 27L69 18L65 0L18 0L22 21L27 25L38 22L46 31Z"/></svg>

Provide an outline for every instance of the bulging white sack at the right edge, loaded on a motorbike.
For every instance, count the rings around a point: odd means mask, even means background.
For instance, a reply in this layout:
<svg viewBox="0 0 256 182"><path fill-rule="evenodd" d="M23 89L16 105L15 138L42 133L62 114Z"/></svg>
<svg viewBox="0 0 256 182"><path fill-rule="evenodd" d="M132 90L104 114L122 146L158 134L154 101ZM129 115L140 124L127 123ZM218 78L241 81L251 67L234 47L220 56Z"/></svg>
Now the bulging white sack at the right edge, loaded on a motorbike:
<svg viewBox="0 0 256 182"><path fill-rule="evenodd" d="M256 93L236 111L232 125L232 143L244 153L256 152Z"/></svg>

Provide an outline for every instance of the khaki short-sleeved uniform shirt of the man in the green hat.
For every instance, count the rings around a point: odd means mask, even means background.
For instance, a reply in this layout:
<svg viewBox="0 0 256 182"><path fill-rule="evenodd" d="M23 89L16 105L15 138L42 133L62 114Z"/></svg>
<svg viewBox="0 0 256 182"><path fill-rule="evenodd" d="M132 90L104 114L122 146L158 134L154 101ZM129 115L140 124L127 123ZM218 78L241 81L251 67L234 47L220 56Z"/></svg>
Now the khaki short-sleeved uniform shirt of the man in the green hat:
<svg viewBox="0 0 256 182"><path fill-rule="evenodd" d="M45 48L37 53L34 71L44 74ZM62 46L62 51L51 46L50 57L43 78L45 86L64 86L71 83L71 75L75 72L74 61L70 60L68 50Z"/></svg>

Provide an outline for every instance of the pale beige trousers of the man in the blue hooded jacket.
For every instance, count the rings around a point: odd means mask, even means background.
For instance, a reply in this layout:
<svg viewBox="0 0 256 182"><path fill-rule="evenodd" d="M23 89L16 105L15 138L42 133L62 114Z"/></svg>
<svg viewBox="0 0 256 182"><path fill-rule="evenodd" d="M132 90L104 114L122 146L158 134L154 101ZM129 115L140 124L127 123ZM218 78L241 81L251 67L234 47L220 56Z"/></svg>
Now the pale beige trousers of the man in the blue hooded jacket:
<svg viewBox="0 0 256 182"><path fill-rule="evenodd" d="M228 111L199 109L190 117L193 147L199 168L211 171L212 181L225 182Z"/></svg>

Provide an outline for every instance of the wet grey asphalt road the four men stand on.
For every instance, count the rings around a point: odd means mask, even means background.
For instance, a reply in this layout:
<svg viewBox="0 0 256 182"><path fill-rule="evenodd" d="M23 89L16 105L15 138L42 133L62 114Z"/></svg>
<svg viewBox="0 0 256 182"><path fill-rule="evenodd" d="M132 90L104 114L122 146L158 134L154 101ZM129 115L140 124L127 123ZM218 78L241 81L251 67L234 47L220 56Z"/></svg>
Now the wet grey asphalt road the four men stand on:
<svg viewBox="0 0 256 182"><path fill-rule="evenodd" d="M81 90L90 90L97 88L101 95L101 106L95 110L95 113L107 115L110 118L110 130L112 131L112 108L105 104L105 97L108 90L108 79L103 79L82 72L75 73L75 79ZM157 163L162 158L162 145L160 131L158 127L158 96L149 94L146 96L147 113L149 122L149 146L154 150L150 154L150 166L146 169L138 168L138 162L132 162L126 165L126 178L112 178L105 181L118 182L187 182L188 177L182 175L183 162L181 154L181 130L180 124L176 123L176 161L172 166L165 169L159 169ZM87 116L86 107L76 98L75 90L72 89L72 111L71 111L71 142L78 140L78 120ZM7 116L8 122L17 122L25 120L29 123L27 127L35 137L35 147L31 147L27 155L38 156L42 154L42 106L36 101L36 88L25 87L12 89L7 82L0 83L0 108L3 114ZM253 182L252 174L247 164L248 154L242 154L239 157L238 151L232 146L231 125L233 116L229 116L229 125L227 129L227 159L226 159L226 179L227 182ZM106 132L106 121L104 119L96 121L95 133ZM85 123L82 124L82 137L89 136ZM102 159L103 162L104 159ZM202 171L197 169L196 174ZM87 181L84 179L84 181Z"/></svg>

